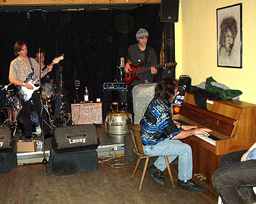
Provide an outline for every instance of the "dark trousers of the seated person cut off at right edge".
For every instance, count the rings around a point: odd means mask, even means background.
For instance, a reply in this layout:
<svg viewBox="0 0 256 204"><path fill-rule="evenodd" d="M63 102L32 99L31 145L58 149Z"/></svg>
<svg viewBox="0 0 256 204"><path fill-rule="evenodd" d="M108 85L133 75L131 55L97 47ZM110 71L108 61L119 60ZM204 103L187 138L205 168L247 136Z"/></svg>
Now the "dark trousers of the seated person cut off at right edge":
<svg viewBox="0 0 256 204"><path fill-rule="evenodd" d="M223 203L255 203L256 160L240 161L247 150L226 154L220 161L221 168L213 173L215 190Z"/></svg>

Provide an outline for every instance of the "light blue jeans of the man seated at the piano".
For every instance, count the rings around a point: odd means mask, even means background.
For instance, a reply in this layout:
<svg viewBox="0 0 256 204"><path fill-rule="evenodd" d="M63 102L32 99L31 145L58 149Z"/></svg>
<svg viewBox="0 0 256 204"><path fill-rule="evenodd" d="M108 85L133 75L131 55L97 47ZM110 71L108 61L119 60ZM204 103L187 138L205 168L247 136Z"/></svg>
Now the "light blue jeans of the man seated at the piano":
<svg viewBox="0 0 256 204"><path fill-rule="evenodd" d="M154 166L160 171L166 169L166 161L164 156L168 156L169 163L174 161L178 156L178 178L181 181L192 178L193 159L191 146L184 144L178 139L165 139L159 141L154 146L144 146L144 154L151 156L159 156L154 162Z"/></svg>

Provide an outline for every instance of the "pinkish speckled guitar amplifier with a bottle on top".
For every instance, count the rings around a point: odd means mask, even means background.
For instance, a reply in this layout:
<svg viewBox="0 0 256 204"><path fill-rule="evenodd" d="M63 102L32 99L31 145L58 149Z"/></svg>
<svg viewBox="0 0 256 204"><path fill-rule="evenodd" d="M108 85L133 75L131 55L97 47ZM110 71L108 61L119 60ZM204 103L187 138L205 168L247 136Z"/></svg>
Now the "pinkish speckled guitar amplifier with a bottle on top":
<svg viewBox="0 0 256 204"><path fill-rule="evenodd" d="M102 124L102 102L71 104L73 124Z"/></svg>

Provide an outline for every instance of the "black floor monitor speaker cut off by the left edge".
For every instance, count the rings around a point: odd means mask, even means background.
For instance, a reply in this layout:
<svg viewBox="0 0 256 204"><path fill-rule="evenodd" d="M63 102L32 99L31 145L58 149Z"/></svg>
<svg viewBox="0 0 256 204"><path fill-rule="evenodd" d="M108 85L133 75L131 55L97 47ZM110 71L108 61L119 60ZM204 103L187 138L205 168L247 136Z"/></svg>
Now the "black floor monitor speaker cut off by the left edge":
<svg viewBox="0 0 256 204"><path fill-rule="evenodd" d="M11 139L11 129L9 127L0 128L0 152L14 150L14 140Z"/></svg>

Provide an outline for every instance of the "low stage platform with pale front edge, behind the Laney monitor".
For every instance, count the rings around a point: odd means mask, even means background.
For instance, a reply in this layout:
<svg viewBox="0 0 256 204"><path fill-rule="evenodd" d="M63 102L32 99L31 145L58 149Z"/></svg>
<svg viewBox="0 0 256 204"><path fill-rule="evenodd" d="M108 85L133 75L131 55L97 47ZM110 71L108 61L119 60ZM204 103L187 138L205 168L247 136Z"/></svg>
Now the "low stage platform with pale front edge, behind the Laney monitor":
<svg viewBox="0 0 256 204"><path fill-rule="evenodd" d="M114 154L121 155L124 154L124 143L112 143L110 141L110 136L105 131L105 124L97 126L97 134L100 139L100 145L96 149L98 157L107 156L110 151L114 151ZM42 140L41 138L35 138ZM45 151L34 151L34 152L22 152L17 153L18 164L26 163L41 163L44 158L49 160L50 148L52 147L51 138L45 140Z"/></svg>

